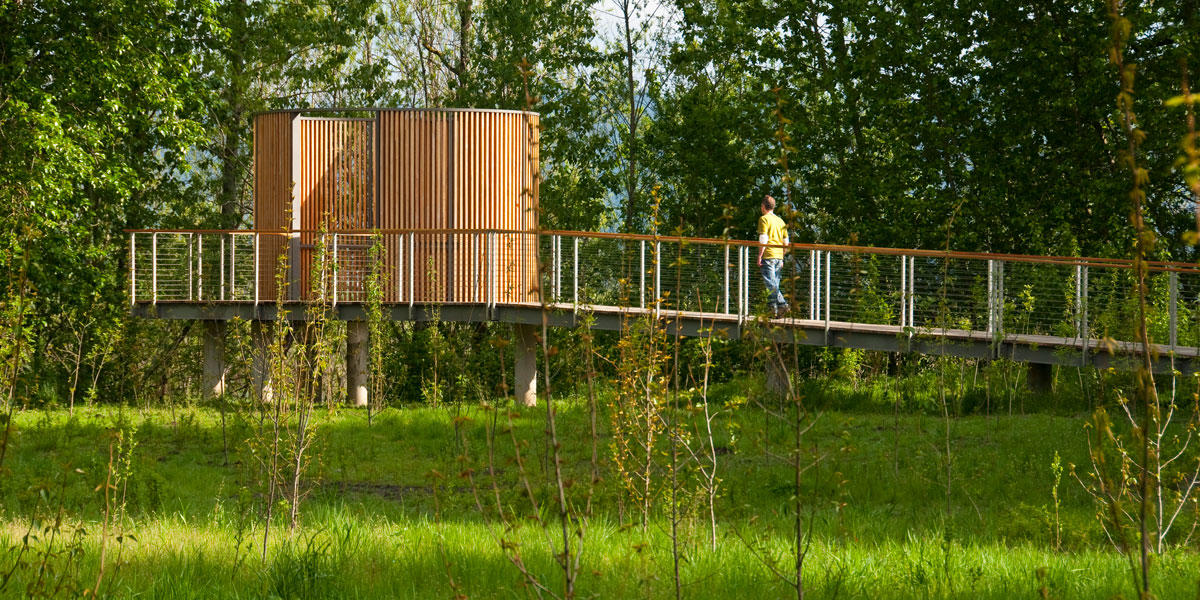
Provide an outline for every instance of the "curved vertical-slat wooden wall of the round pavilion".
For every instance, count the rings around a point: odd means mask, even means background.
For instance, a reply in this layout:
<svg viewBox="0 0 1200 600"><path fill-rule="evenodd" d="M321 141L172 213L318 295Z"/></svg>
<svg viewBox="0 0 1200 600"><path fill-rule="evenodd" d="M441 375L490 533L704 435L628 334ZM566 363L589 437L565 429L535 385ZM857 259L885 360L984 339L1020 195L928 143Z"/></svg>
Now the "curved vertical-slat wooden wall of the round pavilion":
<svg viewBox="0 0 1200 600"><path fill-rule="evenodd" d="M508 229L538 226L538 115L508 110L378 109L371 119L313 119L268 113L254 121L258 229ZM290 148L289 148L290 146ZM281 185L290 180L292 186ZM281 194L290 187L288 194ZM293 218L298 217L298 218ZM300 266L292 284L310 289L314 235L290 239ZM274 280L288 245L263 245L259 281ZM538 244L530 234L385 236L385 301L408 301L408 263L418 302L536 302ZM365 265L366 245L338 242L340 290L361 286L346 264ZM344 253L343 253L344 252ZM354 258L349 254L361 253ZM492 270L485 272L487 256ZM403 269L400 269L403 257ZM484 280L488 283L481 286ZM293 290L295 296L295 290ZM341 292L340 292L341 295ZM301 294L300 298L307 296ZM271 294L270 298L274 299Z"/></svg>

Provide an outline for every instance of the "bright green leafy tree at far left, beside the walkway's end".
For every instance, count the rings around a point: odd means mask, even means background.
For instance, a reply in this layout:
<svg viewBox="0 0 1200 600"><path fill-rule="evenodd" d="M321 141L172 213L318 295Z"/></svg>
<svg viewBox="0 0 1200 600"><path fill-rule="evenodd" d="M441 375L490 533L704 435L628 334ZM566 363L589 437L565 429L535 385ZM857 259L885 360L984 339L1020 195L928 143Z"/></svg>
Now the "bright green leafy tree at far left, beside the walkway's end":
<svg viewBox="0 0 1200 600"><path fill-rule="evenodd" d="M29 258L35 362L76 317L120 318L122 229L184 204L200 26L143 0L0 6L0 269Z"/></svg>

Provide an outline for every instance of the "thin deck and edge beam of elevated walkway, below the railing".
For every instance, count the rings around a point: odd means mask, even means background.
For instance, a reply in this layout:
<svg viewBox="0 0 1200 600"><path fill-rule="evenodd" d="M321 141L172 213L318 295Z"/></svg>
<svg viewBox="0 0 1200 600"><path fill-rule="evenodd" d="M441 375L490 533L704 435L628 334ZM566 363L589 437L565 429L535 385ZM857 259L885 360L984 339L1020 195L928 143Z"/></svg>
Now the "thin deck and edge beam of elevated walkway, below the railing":
<svg viewBox="0 0 1200 600"><path fill-rule="evenodd" d="M305 304L253 304L245 301L136 302L133 314L146 318L203 320L275 320L277 312L286 318L304 320ZM364 320L361 304L338 304L334 316L344 320ZM1009 359L1064 366L1132 368L1138 362L1140 346L1112 340L1082 340L1031 334L1006 334L995 338L986 331L942 328L901 328L869 323L812 320L794 317L766 318L716 312L654 310L625 306L576 306L571 304L390 304L385 318L394 320L457 323L511 323L553 328L577 328L619 331L630 319L658 318L668 335L719 335L728 338L762 336L779 343L858 348L880 352L953 355L977 359ZM1176 370L1190 373L1200 368L1200 348L1153 346L1157 371Z"/></svg>

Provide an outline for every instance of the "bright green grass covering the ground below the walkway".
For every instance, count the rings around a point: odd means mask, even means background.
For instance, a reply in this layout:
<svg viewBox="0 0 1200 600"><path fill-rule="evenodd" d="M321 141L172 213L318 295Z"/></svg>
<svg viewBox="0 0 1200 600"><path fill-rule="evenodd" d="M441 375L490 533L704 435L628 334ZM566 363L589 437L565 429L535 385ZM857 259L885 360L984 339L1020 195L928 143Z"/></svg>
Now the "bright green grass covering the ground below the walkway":
<svg viewBox="0 0 1200 600"><path fill-rule="evenodd" d="M743 385L731 384L718 396L737 397ZM811 598L1040 598L1043 587L1049 598L1133 598L1128 563L1105 541L1091 498L1066 473L1058 490L1061 547L1054 547L1050 463L1058 452L1063 463L1085 468L1082 416L953 419L948 509L944 422L928 414L893 416L883 406L829 408L806 438L810 451L823 456L805 475L803 492L814 527L805 568ZM467 462L458 458L455 415L469 419L463 424ZM539 581L551 589L560 586L557 550L545 532L527 520L505 533L494 518L484 462L488 415L466 406L389 409L371 427L360 412L322 412L301 527L288 533L277 521L263 560L262 524L247 509L256 500L247 487L256 462L244 443L251 419L229 418L226 464L220 415L211 409L19 413L0 479L0 569L13 565L31 520L44 527L61 504L70 517L64 529L83 526L86 532L65 546L60 538L60 547L80 553L46 560L43 580L66 582L59 595L70 584L94 583L102 516L96 487L107 470L113 428L136 426L124 523L132 536L109 546L103 590L113 598L452 598L450 577L470 598L523 598L502 536L521 542ZM544 409L522 410L515 433L528 443L522 454L535 494L548 503L544 420ZM563 464L571 493L580 497L590 454L586 407L577 400L563 403L559 421ZM607 430L607 416L601 424ZM792 474L768 457L787 452L788 426L749 407L727 412L718 424L719 540L715 550L708 547L703 511L689 504L697 510L682 526L684 596L786 596L788 588L762 557L774 557L784 569L790 560ZM502 434L494 450L502 503L529 515L510 461L511 442ZM584 535L581 596L673 598L668 503L660 497L643 533L629 504L620 510L606 436L600 450L605 478ZM468 463L475 468L482 514L460 476ZM436 486L433 470L446 475ZM44 536L30 546L22 557L26 566L17 569L4 595L25 595L37 580L36 551L44 547ZM1158 598L1195 598L1198 577L1195 546L1156 560Z"/></svg>

